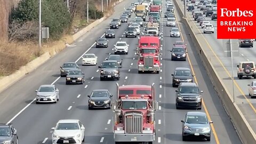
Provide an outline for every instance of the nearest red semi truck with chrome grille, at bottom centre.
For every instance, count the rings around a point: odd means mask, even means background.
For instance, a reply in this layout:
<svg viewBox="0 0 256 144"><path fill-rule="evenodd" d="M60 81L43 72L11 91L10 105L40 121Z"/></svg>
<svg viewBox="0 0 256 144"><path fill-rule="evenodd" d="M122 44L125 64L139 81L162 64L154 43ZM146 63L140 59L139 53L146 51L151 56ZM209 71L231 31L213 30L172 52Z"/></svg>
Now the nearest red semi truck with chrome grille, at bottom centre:
<svg viewBox="0 0 256 144"><path fill-rule="evenodd" d="M111 103L115 113L115 144L124 142L147 142L155 140L155 100L154 83L150 85L117 86L117 100Z"/></svg>

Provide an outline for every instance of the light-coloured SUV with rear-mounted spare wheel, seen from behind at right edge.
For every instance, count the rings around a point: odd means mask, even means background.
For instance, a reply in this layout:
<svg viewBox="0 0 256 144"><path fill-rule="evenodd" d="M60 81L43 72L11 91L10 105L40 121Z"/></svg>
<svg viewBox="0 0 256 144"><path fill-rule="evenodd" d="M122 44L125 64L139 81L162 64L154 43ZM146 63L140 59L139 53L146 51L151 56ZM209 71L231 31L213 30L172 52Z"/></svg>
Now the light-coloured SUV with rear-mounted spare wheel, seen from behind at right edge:
<svg viewBox="0 0 256 144"><path fill-rule="evenodd" d="M256 78L256 67L253 61L242 61L237 65L237 77L242 79L243 76L252 76Z"/></svg>

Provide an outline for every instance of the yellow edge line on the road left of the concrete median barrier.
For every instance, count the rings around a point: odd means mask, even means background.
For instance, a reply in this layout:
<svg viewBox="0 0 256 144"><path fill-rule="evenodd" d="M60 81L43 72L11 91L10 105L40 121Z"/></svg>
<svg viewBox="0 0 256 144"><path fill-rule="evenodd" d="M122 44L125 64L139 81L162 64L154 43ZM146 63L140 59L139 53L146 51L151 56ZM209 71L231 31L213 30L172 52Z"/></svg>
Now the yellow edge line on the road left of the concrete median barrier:
<svg viewBox="0 0 256 144"><path fill-rule="evenodd" d="M175 13L175 12L174 12L174 13ZM175 15L177 15L177 14L175 13ZM178 27L179 27L179 29L180 29L179 22L178 22ZM181 29L180 29L180 33L181 33ZM182 39L183 42L185 42L182 33L181 33L181 39ZM191 67L192 73L195 75L195 82L196 82L196 84L198 85L198 83L197 83L197 78L196 78L196 74L195 74L194 68L193 68L193 66L192 66L192 64L191 64L191 61L190 61L190 59L189 59L188 53L187 53L187 58L188 58L188 63L189 63L189 65L190 65L190 67ZM202 98L202 105L203 105L203 107L204 107L206 116L208 117L209 121L212 121L212 120L211 120L211 117L210 117L210 115L209 115L209 112L208 112L208 110L207 110L207 108L206 108L206 106L205 106L205 103L204 103L203 98ZM214 135L214 138L215 138L216 143L217 143L217 144L220 144L220 141L219 141L217 132L215 131L215 128L214 128L214 126L213 126L212 123L211 123L211 127L212 127L212 133L213 133L213 135Z"/></svg>

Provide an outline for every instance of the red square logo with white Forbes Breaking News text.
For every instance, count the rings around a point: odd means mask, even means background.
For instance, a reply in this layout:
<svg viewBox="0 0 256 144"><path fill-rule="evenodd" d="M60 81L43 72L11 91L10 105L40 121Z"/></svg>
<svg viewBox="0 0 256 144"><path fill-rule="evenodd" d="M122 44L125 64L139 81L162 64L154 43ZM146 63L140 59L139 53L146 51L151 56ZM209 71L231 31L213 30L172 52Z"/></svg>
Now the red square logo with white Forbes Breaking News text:
<svg viewBox="0 0 256 144"><path fill-rule="evenodd" d="M256 38L255 0L233 0L231 3L219 0L217 7L217 38ZM255 10L256 11L256 10Z"/></svg>

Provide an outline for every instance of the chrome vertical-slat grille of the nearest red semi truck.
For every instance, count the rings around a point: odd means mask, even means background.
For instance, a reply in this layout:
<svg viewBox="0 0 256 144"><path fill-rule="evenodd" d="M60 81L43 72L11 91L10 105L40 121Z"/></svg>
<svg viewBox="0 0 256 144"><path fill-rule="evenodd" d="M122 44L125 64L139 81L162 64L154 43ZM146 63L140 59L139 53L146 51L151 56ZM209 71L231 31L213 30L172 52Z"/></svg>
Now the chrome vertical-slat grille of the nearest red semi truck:
<svg viewBox="0 0 256 144"><path fill-rule="evenodd" d="M142 115L129 114L125 116L125 133L142 132Z"/></svg>

